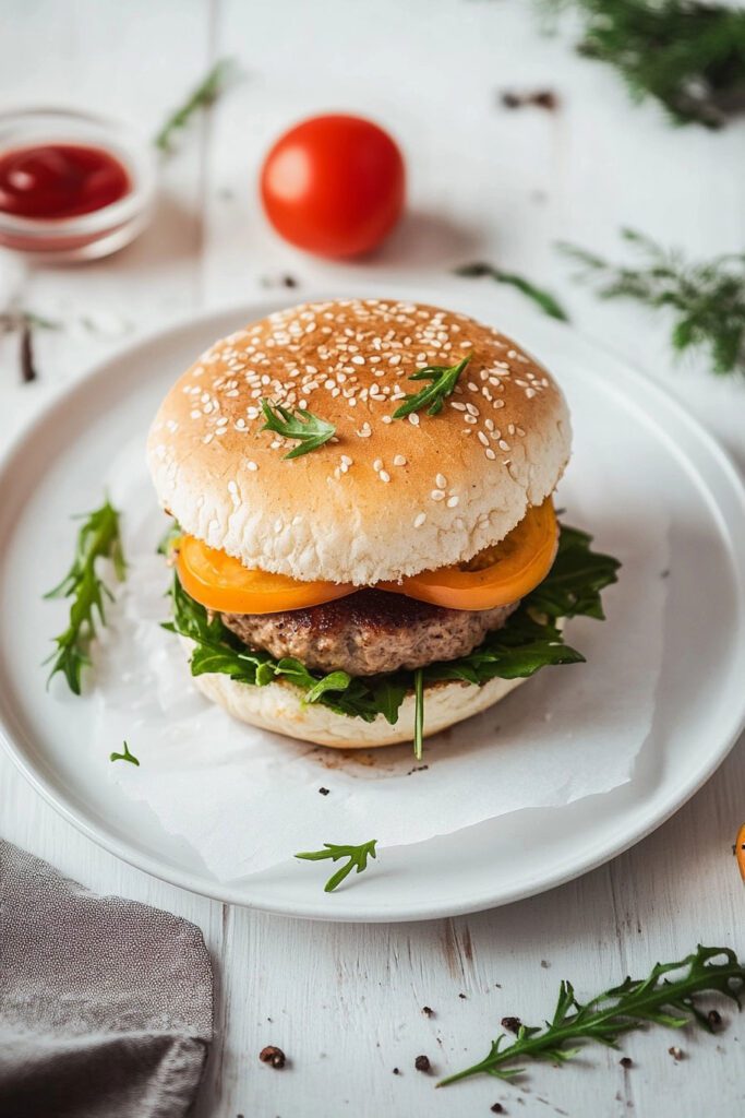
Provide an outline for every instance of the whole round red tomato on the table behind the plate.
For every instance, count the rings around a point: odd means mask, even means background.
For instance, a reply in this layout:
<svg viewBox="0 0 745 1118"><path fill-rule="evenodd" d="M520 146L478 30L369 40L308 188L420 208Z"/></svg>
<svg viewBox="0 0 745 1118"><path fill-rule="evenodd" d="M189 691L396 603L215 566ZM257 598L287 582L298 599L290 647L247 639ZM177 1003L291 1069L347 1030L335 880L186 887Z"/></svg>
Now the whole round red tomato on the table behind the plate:
<svg viewBox="0 0 745 1118"><path fill-rule="evenodd" d="M359 116L297 124L261 169L261 199L275 229L321 256L356 256L379 245L401 215L403 193L397 144Z"/></svg>

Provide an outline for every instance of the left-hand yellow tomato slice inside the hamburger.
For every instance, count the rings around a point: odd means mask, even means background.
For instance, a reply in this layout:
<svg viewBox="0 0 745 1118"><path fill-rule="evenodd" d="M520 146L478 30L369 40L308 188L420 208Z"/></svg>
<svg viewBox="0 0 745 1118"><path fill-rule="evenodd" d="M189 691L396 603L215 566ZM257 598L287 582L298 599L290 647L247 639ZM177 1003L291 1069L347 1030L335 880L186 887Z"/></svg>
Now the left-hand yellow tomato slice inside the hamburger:
<svg viewBox="0 0 745 1118"><path fill-rule="evenodd" d="M193 536L182 536L176 549L176 570L184 590L218 613L276 614L343 598L356 589L347 584L298 582L287 575L250 570Z"/></svg>

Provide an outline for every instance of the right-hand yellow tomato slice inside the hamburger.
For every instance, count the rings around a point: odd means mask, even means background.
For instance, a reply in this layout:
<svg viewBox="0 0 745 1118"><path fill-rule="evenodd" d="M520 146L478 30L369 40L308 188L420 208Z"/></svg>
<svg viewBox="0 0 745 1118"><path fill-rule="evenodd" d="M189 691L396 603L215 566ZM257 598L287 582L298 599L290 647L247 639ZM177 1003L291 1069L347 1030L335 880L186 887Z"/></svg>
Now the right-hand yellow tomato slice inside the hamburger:
<svg viewBox="0 0 745 1118"><path fill-rule="evenodd" d="M557 544L551 498L529 508L519 524L470 562L424 570L401 582L380 582L381 590L405 594L448 609L491 609L529 594L551 570Z"/></svg>

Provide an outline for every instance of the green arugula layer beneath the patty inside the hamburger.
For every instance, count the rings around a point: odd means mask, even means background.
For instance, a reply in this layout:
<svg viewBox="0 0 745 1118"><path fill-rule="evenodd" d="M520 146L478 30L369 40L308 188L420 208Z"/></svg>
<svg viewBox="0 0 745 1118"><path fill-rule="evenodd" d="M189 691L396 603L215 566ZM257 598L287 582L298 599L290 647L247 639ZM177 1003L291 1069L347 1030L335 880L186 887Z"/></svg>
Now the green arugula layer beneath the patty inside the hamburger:
<svg viewBox="0 0 745 1118"><path fill-rule="evenodd" d="M437 681L462 680L480 685L495 678L519 679L533 675L551 664L574 664L581 653L564 644L556 622L561 617L603 616L600 591L617 580L619 562L611 556L590 549L591 537L576 529L561 529L558 551L546 578L507 619L500 629L467 656L441 661L419 670L422 685ZM164 628L189 637L195 644L191 656L192 675L221 672L241 683L262 686L285 680L304 691L305 702L319 702L337 714L372 722L382 714L395 726L401 703L416 693L412 671L385 675L350 676L346 672L327 675L311 672L299 660L276 660L268 652L247 647L219 615L208 615L203 606L189 597L174 576L171 590L173 620ZM421 722L420 722L421 726Z"/></svg>

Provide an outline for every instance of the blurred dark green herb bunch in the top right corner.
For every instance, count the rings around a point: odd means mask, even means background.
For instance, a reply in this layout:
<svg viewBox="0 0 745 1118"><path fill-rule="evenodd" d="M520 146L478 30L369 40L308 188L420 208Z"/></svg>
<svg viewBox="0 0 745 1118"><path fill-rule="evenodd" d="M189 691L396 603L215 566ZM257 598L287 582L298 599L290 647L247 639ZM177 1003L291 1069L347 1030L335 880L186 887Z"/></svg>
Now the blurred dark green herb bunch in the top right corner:
<svg viewBox="0 0 745 1118"><path fill-rule="evenodd" d="M634 101L655 97L676 124L717 129L745 107L745 12L701 0L541 0L573 7L577 49L613 66Z"/></svg>

